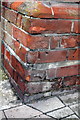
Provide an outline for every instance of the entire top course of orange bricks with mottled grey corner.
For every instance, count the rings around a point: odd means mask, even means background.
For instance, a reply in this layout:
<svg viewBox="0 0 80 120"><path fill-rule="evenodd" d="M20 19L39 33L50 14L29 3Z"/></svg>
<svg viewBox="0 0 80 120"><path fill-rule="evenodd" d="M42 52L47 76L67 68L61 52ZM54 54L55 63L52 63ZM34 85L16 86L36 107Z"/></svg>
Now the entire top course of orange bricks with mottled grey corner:
<svg viewBox="0 0 80 120"><path fill-rule="evenodd" d="M3 5L36 18L80 19L80 0L3 0Z"/></svg>

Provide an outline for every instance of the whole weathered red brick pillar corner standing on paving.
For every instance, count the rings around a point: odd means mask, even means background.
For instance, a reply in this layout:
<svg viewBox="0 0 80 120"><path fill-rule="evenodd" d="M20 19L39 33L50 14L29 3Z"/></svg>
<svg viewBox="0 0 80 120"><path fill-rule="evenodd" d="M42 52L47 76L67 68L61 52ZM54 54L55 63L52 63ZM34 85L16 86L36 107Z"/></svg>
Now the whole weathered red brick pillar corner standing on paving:
<svg viewBox="0 0 80 120"><path fill-rule="evenodd" d="M2 2L2 65L23 100L80 85L78 3Z"/></svg>

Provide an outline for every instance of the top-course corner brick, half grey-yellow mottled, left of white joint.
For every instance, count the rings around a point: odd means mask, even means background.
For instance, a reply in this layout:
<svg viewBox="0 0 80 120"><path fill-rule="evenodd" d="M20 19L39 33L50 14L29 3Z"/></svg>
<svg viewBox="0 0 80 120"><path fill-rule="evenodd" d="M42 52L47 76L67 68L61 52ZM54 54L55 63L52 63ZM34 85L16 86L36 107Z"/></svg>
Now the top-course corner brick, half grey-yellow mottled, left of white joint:
<svg viewBox="0 0 80 120"><path fill-rule="evenodd" d="M34 2L26 1L21 6L18 7L18 11L33 17L39 17L39 18L53 17L51 8L43 5L43 3L40 1L34 1Z"/></svg>

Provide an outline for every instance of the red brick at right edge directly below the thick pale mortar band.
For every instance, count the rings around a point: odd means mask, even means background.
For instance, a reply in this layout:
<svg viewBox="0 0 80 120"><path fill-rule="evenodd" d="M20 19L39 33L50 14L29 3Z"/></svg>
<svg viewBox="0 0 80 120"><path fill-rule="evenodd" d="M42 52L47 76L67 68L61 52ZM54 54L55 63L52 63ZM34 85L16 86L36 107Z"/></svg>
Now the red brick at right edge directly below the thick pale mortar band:
<svg viewBox="0 0 80 120"><path fill-rule="evenodd" d="M78 67L79 67L78 65L73 65L58 68L56 72L56 77L78 75Z"/></svg>

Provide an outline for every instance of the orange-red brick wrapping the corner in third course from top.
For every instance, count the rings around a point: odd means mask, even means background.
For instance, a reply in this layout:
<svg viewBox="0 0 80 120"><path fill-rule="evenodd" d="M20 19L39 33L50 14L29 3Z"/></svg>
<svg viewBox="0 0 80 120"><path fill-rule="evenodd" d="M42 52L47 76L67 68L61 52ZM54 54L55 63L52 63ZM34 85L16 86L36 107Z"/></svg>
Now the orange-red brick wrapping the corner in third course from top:
<svg viewBox="0 0 80 120"><path fill-rule="evenodd" d="M16 27L13 27L13 37L30 49L47 49L49 47L50 37L31 36Z"/></svg>

